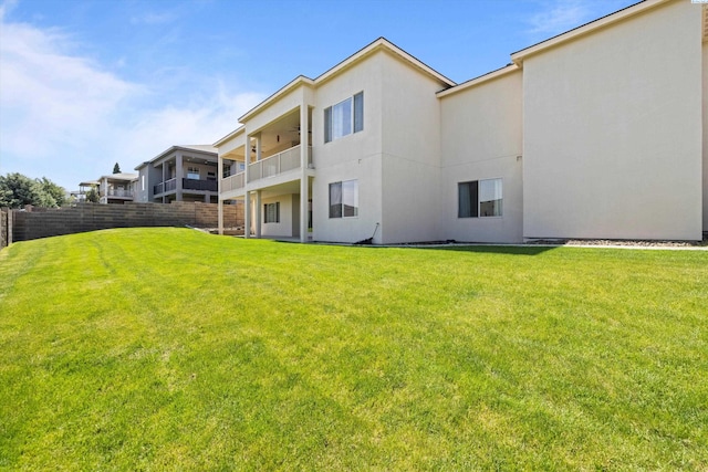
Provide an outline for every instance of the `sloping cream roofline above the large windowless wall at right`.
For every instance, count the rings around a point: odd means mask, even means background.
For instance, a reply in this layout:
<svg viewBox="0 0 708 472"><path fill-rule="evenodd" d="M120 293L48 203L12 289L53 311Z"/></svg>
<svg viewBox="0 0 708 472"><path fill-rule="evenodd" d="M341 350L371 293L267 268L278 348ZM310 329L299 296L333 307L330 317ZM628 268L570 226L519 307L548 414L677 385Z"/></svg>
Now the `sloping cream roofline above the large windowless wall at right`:
<svg viewBox="0 0 708 472"><path fill-rule="evenodd" d="M618 21L626 20L638 13L643 13L647 10L656 8L664 3L668 3L670 1L674 1L674 0L642 0L638 3L631 4L629 7L625 7L622 10L617 10L615 12L608 13L596 20L590 21L585 24L581 24L577 28L573 28L572 30L556 34L553 38L549 38L548 40L543 40L539 43L535 43L533 45L530 45L528 48L513 52L511 53L511 60L513 61L514 64L521 66L523 63L523 60L530 55L543 52L548 49L554 48L568 41L575 40L580 36L584 36L585 34L592 33L601 28L605 28Z"/></svg>

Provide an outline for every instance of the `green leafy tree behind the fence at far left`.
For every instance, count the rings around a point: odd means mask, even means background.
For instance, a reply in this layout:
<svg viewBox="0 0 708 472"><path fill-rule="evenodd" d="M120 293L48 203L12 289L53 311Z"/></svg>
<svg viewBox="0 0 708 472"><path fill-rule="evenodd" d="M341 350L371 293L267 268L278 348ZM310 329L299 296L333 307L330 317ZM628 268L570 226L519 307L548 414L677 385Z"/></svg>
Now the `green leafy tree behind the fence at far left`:
<svg viewBox="0 0 708 472"><path fill-rule="evenodd" d="M53 208L62 204L65 198L64 189L46 177L32 180L19 172L0 176L0 207L32 204Z"/></svg>

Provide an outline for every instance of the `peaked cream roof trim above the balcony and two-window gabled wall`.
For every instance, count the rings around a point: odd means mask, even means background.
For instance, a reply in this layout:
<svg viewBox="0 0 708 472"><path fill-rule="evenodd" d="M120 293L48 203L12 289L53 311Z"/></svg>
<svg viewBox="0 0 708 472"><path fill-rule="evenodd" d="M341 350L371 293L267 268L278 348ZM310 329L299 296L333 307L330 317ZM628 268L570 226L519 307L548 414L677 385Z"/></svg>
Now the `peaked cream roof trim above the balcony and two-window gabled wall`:
<svg viewBox="0 0 708 472"><path fill-rule="evenodd" d="M372 54L372 53L374 53L374 52L376 52L376 51L378 51L381 49L394 53L398 57L400 57L404 61L410 63L413 66L415 66L418 70L423 71L424 73L433 76L434 78L445 83L448 86L457 85L454 81L451 81L450 78L448 78L445 75L440 74L439 72L437 72L433 67L428 66L423 61L420 61L420 60L416 59L415 56L408 54L406 51L402 50L400 48L398 48L397 45L395 45L394 43L392 43L387 39L381 36L376 41L374 41L374 42L367 44L366 46L362 48L361 50L356 51L354 54L350 55L348 57L346 57L344 61L340 62L335 66L333 66L333 67L329 69L327 71L325 71L324 73L317 75L316 78L310 78L310 77L306 77L304 75L298 75L295 78L290 81L283 87L281 87L278 92L275 92L274 94L270 95L268 98L266 98L264 101L262 101L261 103L256 105L253 108L248 111L243 116L240 116L238 118L239 123L243 123L244 120L249 119L253 115L257 115L263 108L266 108L268 105L270 105L271 103L275 102L278 98L282 97L287 93L293 91L294 88L296 88L296 87L299 87L301 85L305 85L305 86L310 86L310 87L316 86L316 85L319 85L319 84L321 84L321 83L334 77L335 75L337 75L342 71L346 70L347 67L352 66L356 62L361 61L362 59L368 56L369 54ZM215 146L218 145L218 144L223 143L228 137L231 137L231 134L229 134L229 135L225 136L223 138L219 139L215 144Z"/></svg>

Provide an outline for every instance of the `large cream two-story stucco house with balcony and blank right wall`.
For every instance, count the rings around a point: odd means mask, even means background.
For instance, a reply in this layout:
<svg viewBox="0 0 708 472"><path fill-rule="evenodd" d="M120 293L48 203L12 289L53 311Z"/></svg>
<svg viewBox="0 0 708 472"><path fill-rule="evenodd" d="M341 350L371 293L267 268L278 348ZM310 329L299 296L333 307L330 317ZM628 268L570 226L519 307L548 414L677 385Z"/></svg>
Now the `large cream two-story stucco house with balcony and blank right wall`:
<svg viewBox="0 0 708 472"><path fill-rule="evenodd" d="M455 84L385 39L215 144L247 237L375 243L708 231L708 14L647 0Z"/></svg>

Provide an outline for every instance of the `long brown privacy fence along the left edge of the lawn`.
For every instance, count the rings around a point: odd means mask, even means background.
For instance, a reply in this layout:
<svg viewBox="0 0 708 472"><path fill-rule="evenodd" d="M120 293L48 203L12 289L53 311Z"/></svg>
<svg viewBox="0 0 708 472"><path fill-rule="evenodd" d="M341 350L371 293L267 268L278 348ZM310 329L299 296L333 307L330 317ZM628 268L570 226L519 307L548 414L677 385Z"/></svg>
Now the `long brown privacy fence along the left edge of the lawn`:
<svg viewBox="0 0 708 472"><path fill-rule="evenodd" d="M218 204L190 201L173 203L82 203L76 207L2 211L2 243L110 228L134 227L217 228ZM243 206L223 206L223 225L243 227Z"/></svg>

